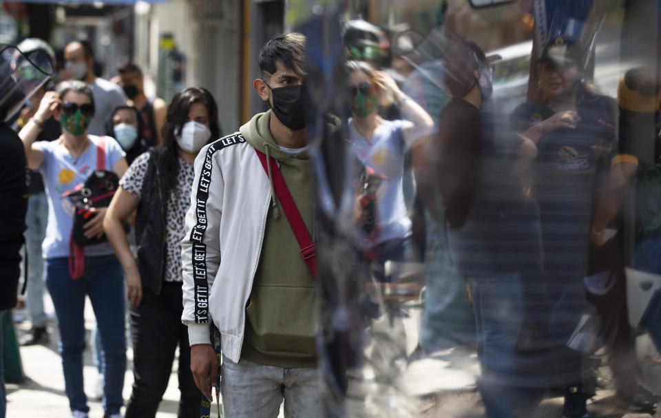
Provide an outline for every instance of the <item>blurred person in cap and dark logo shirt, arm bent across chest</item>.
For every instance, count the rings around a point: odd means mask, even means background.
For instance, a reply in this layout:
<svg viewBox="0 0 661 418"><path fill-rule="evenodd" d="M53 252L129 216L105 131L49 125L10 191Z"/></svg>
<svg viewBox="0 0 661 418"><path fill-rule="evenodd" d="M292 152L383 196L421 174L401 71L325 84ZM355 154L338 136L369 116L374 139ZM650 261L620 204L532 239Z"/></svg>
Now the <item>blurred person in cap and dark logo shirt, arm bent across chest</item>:
<svg viewBox="0 0 661 418"><path fill-rule="evenodd" d="M606 270L598 265L606 264L609 280L623 283L617 278L618 251L599 262L593 250L605 244L603 228L612 220L600 216L603 197L611 194L613 174L628 160L617 156L616 102L582 77L585 52L580 43L562 39L547 45L538 60L540 100L519 105L511 116L512 129L531 149L529 194L538 203L544 249L543 275L529 295L536 306L527 315L541 331L532 343L547 357L549 373L538 377L563 388L567 418L590 416L586 401L594 390L582 374L594 349L580 344L575 332L579 320L594 312L584 278ZM616 201L607 200L607 205ZM616 241L610 242L613 249ZM627 368L633 376L635 364ZM627 391L636 386L635 379L631 382Z"/></svg>

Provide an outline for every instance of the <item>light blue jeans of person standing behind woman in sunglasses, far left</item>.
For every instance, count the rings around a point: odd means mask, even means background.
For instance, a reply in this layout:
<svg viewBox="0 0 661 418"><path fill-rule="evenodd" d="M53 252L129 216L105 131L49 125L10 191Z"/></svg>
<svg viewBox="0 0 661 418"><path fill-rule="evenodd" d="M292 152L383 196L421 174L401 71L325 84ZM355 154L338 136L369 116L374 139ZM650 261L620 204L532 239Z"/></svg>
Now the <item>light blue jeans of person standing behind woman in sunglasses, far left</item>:
<svg viewBox="0 0 661 418"><path fill-rule="evenodd" d="M30 195L28 213L25 215L25 251L28 253L28 274L25 280L25 305L28 307L33 328L46 326L46 314L43 311L43 260L41 243L46 234L48 222L48 199L41 192Z"/></svg>

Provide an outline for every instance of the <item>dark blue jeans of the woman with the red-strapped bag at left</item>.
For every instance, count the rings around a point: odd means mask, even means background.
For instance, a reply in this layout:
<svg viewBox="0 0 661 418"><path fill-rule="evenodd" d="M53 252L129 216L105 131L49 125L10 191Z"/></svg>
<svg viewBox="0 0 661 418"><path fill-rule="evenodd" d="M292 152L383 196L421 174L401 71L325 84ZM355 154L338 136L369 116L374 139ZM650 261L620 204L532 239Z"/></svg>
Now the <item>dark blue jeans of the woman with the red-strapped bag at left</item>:
<svg viewBox="0 0 661 418"><path fill-rule="evenodd" d="M116 414L122 407L126 369L124 274L114 255L85 257L83 277L72 280L67 258L46 260L46 284L60 330L60 354L71 410L89 411L83 390L85 295L90 297L105 353L103 409Z"/></svg>

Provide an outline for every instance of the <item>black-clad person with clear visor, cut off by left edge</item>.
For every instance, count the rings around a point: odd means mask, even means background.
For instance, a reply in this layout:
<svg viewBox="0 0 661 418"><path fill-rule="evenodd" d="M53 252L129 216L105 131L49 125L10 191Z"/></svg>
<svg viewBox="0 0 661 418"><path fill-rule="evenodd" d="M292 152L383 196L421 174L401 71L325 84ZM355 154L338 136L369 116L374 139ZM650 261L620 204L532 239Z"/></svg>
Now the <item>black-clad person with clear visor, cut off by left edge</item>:
<svg viewBox="0 0 661 418"><path fill-rule="evenodd" d="M27 159L21 138L10 121L34 92L50 79L53 63L43 51L24 54L12 45L0 49L0 317L17 303L21 274L20 250L25 238L28 185ZM6 392L2 355L3 329L0 324L0 418L6 416Z"/></svg>

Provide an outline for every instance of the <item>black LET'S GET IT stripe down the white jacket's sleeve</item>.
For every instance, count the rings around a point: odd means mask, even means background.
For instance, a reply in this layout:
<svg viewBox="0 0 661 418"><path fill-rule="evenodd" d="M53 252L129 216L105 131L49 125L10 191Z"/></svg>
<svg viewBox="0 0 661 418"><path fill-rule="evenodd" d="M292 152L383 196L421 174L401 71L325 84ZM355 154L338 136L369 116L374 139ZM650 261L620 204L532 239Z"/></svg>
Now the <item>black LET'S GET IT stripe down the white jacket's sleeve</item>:
<svg viewBox="0 0 661 418"><path fill-rule="evenodd" d="M213 169L213 154L230 145L244 143L241 134L224 136L211 143L204 155L204 165L196 186L196 217L197 222L191 230L190 240L193 242L193 282L195 284L195 322L209 322L209 283L207 282L207 246L204 245L204 232L207 231L207 200L211 188L211 170Z"/></svg>

